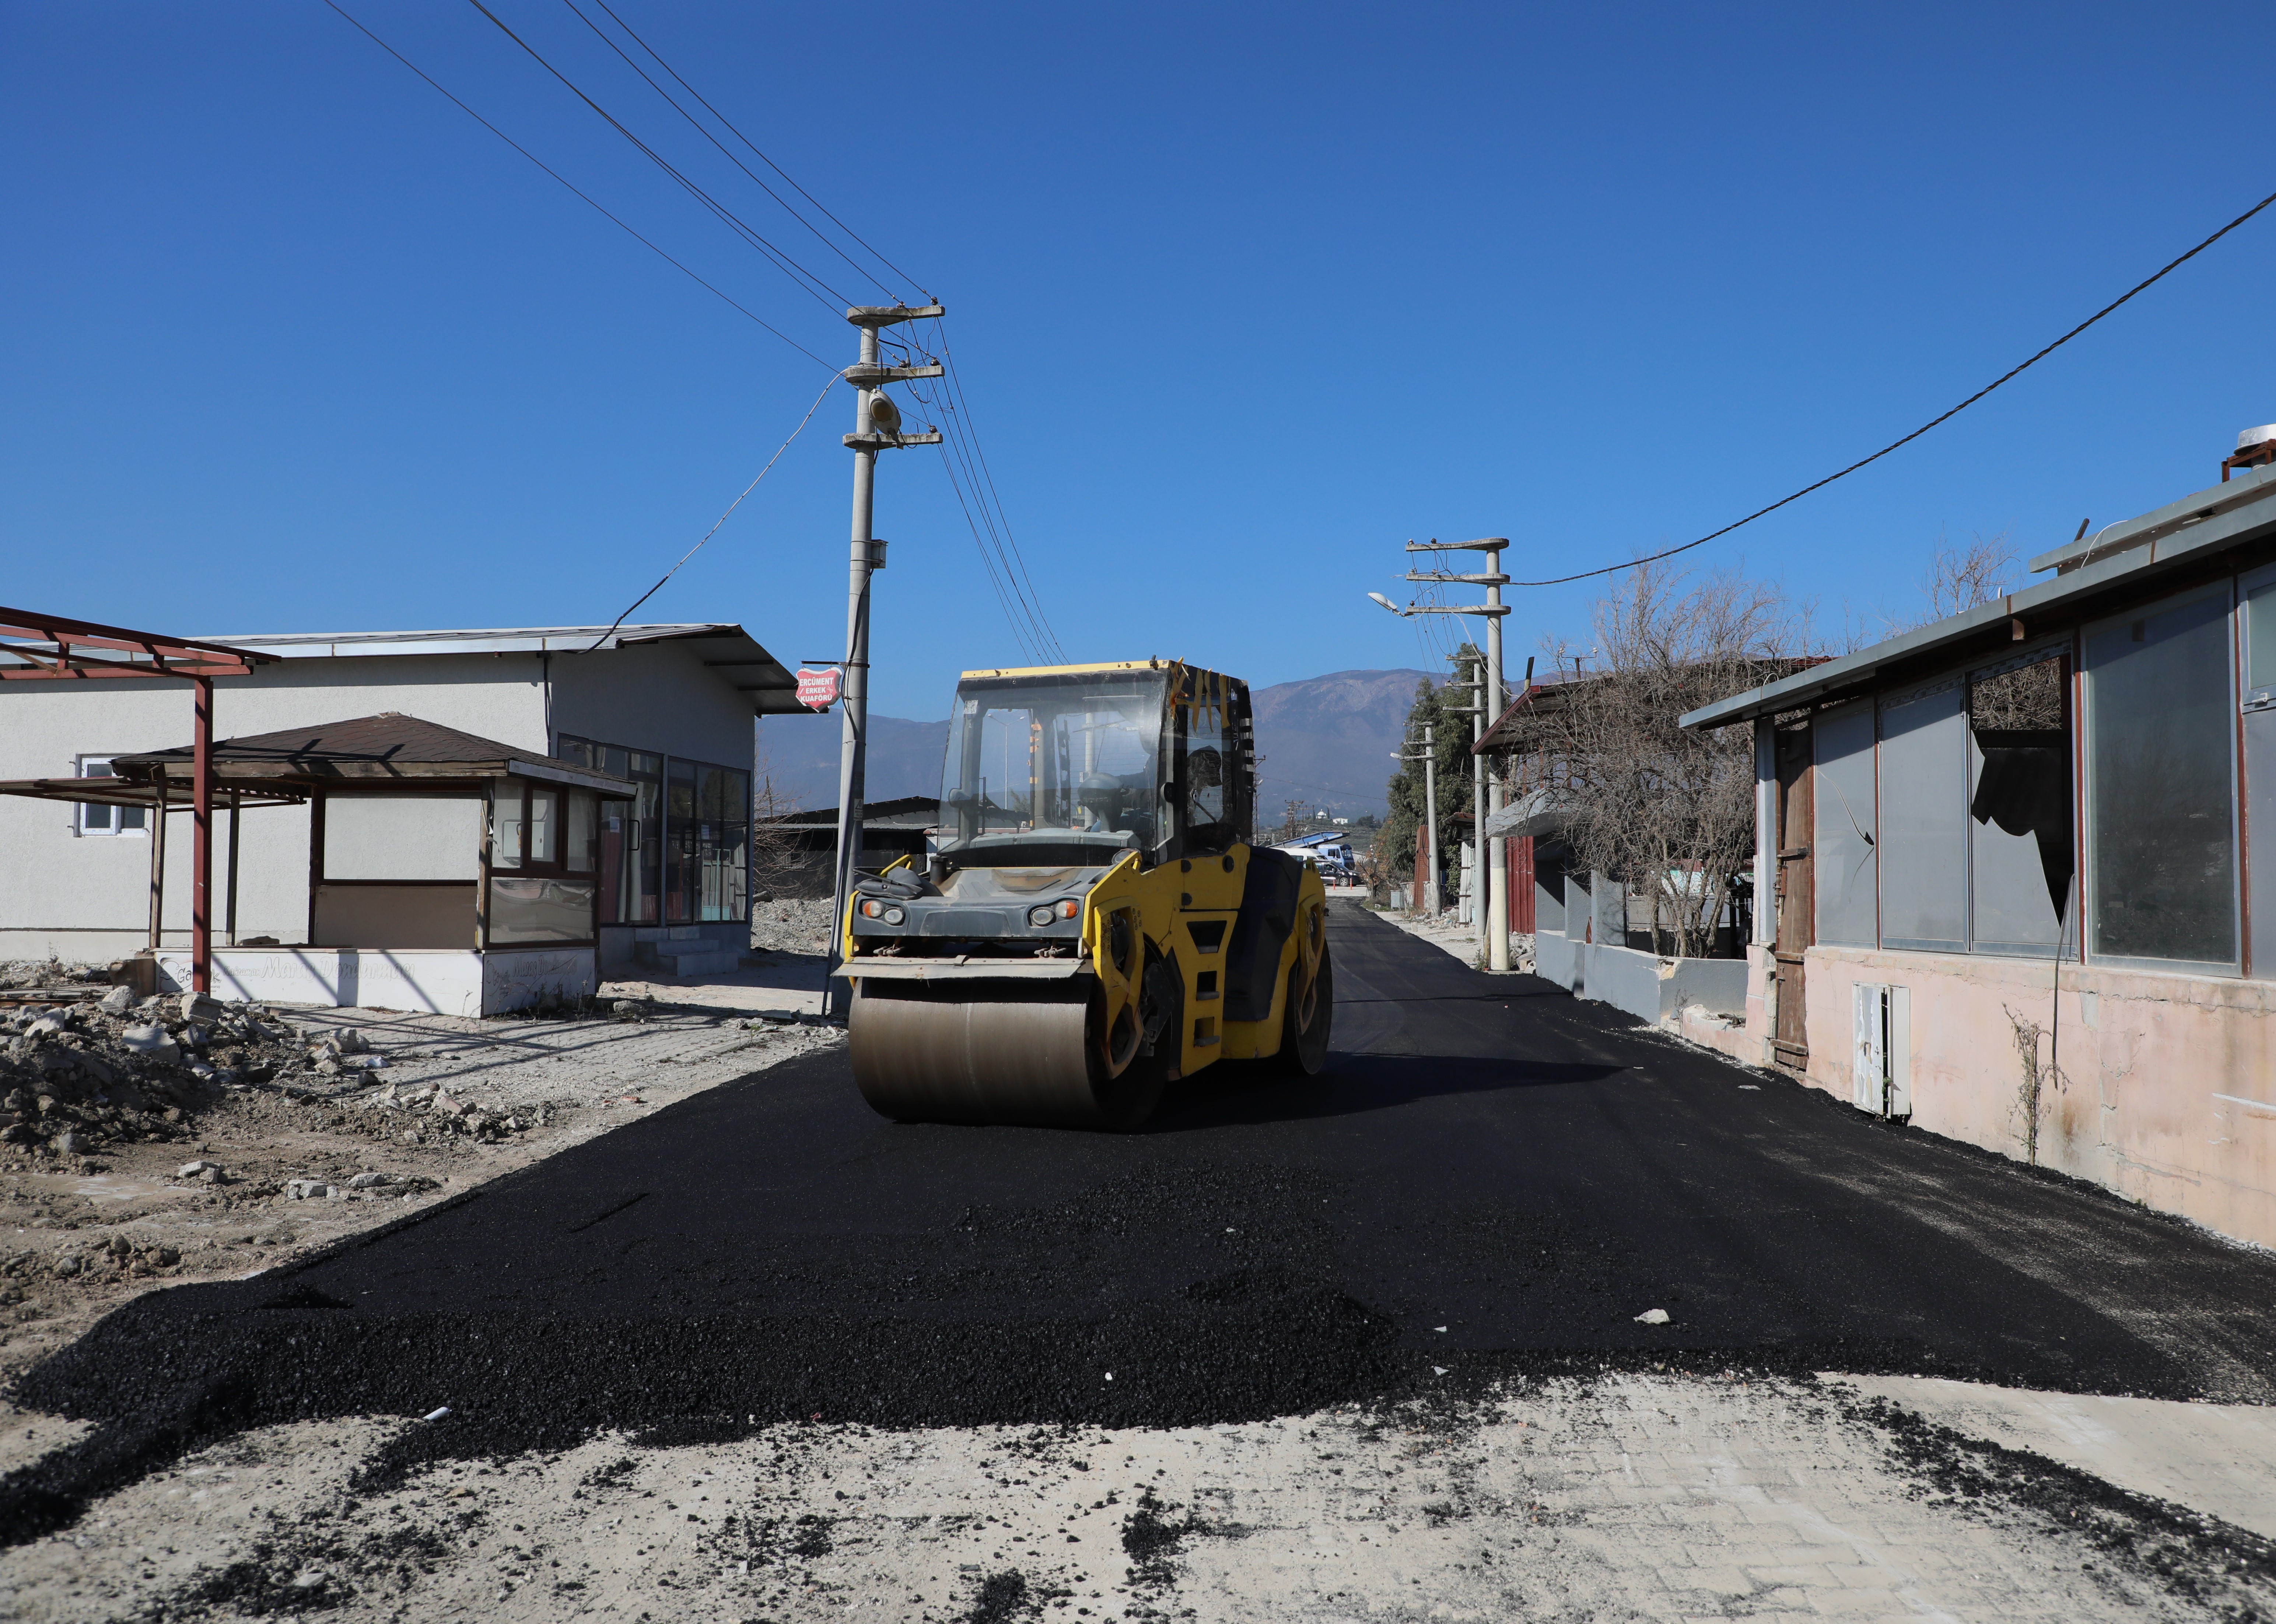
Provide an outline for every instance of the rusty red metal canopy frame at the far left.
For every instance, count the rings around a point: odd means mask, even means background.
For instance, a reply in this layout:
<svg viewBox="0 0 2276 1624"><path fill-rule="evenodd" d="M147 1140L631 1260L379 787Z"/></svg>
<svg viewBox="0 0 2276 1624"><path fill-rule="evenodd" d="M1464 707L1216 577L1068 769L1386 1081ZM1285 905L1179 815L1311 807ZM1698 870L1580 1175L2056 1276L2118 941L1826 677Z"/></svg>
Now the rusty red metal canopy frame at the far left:
<svg viewBox="0 0 2276 1624"><path fill-rule="evenodd" d="M189 842L189 985L214 983L214 678L253 676L278 655L203 644L189 637L137 632L68 614L0 607L0 682L89 682L98 678L157 678L191 685L191 842ZM48 785L55 780L27 780ZM18 794L41 794L39 789ZM43 796L50 798L50 796ZM59 798L59 796L52 796ZM75 796L93 801L98 796ZM157 792L159 826L150 832L150 944L157 946L164 908L166 801ZM234 846L237 826L230 823Z"/></svg>

